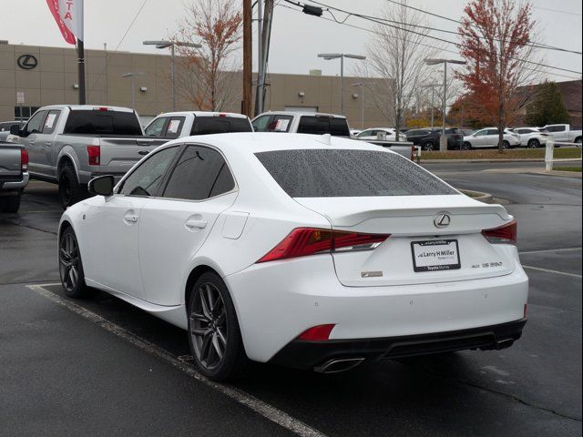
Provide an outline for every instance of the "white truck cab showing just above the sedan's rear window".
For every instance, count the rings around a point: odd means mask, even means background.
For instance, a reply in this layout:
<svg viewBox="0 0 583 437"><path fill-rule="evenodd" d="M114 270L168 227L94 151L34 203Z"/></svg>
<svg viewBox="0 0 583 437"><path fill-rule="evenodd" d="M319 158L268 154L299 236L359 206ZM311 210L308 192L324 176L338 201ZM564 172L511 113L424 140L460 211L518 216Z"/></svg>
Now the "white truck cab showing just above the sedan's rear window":
<svg viewBox="0 0 583 437"><path fill-rule="evenodd" d="M284 132L350 138L346 117L304 112L266 112L253 118L255 132Z"/></svg>

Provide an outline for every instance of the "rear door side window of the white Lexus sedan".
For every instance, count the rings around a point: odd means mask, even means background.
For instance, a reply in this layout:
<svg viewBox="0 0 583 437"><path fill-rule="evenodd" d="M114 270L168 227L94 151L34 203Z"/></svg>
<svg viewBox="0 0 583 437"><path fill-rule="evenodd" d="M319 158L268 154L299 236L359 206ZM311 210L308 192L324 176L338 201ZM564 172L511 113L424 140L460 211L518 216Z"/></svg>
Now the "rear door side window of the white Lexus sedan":
<svg viewBox="0 0 583 437"><path fill-rule="evenodd" d="M229 166L220 153L209 147L186 147L172 170L164 198L204 200L235 188Z"/></svg>

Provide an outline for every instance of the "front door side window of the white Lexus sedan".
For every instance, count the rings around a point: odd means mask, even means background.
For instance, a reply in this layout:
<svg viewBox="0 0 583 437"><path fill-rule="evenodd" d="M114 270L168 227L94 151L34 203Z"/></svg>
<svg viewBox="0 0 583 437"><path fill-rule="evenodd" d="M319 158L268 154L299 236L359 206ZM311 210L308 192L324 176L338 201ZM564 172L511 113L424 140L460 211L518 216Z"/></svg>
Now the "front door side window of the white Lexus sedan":
<svg viewBox="0 0 583 437"><path fill-rule="evenodd" d="M178 149L169 147L150 155L124 180L118 193L124 196L156 196Z"/></svg>

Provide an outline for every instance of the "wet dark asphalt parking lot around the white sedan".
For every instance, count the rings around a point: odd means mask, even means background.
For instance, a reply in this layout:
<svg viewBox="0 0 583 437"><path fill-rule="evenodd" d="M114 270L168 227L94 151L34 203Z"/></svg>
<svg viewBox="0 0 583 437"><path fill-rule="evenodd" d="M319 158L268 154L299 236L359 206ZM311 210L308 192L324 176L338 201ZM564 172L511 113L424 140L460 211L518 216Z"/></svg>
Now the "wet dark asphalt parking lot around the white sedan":
<svg viewBox="0 0 583 437"><path fill-rule="evenodd" d="M62 210L33 182L20 213L0 216L0 435L581 435L581 179L513 166L427 165L517 217L531 282L512 348L337 375L256 366L235 385L201 378L168 323L45 285Z"/></svg>

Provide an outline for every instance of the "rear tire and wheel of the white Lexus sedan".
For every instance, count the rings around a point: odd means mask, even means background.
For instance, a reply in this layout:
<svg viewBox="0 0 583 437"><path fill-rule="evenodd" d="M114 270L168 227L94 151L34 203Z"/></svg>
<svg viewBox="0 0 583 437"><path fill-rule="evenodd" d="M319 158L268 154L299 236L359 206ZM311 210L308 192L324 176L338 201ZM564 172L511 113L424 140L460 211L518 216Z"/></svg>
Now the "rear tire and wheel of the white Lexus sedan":
<svg viewBox="0 0 583 437"><path fill-rule="evenodd" d="M194 283L187 313L190 351L199 371L212 381L244 376L251 361L230 292L219 275L209 271Z"/></svg>

